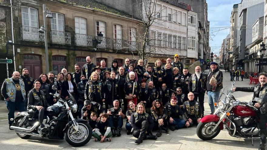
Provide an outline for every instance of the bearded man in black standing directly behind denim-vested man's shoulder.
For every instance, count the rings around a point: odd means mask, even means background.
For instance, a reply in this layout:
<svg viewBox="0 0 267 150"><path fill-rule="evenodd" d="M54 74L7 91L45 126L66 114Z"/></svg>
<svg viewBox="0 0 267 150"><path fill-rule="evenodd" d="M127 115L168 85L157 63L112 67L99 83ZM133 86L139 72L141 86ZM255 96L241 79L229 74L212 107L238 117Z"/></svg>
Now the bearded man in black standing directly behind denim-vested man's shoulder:
<svg viewBox="0 0 267 150"><path fill-rule="evenodd" d="M29 70L26 68L22 69L22 75L20 76L20 78L22 78L24 85L25 85L25 92L28 93L33 86L33 78L29 77ZM28 105L28 95L26 94L26 98L25 98L25 109L27 108Z"/></svg>

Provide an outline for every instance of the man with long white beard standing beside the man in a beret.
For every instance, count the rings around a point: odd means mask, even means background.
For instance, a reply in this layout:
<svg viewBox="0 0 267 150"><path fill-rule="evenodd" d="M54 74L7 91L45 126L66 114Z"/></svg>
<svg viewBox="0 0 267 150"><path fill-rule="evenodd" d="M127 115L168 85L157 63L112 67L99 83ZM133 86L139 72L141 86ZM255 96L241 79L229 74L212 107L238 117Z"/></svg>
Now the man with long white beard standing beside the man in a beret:
<svg viewBox="0 0 267 150"><path fill-rule="evenodd" d="M195 67L195 73L191 75L188 83L189 92L194 93L194 100L199 102L202 116L204 116L204 96L207 86L207 76L201 72L200 66Z"/></svg>

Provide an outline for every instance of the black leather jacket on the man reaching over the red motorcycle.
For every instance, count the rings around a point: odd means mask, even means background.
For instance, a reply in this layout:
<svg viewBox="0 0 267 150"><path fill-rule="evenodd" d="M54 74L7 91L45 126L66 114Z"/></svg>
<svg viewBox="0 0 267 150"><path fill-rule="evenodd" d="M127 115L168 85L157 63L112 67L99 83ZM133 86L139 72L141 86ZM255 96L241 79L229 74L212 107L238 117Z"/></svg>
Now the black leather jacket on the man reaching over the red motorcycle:
<svg viewBox="0 0 267 150"><path fill-rule="evenodd" d="M253 92L253 98L262 98L261 102L261 113L267 114L267 96L265 96L267 90L267 84L265 84L263 87L261 87L261 84L258 83L254 87L236 87L235 91L242 91L242 92Z"/></svg>

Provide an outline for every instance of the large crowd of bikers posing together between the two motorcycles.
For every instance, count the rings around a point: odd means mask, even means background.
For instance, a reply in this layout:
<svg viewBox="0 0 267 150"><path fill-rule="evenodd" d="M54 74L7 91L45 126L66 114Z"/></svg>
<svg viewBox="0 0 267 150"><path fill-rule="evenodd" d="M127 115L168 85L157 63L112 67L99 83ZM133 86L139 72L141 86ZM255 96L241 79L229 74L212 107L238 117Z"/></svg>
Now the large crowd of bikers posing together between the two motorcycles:
<svg viewBox="0 0 267 150"><path fill-rule="evenodd" d="M167 58L166 62L163 66L158 59L155 66L145 67L139 59L135 66L127 58L123 66L113 60L107 68L104 60L96 66L87 56L86 64L81 69L75 64L73 73L63 68L58 75L49 72L34 81L26 68L22 75L14 72L1 88L9 111L9 126L17 107L19 111L27 109L38 114L40 126L44 127L44 110L57 101L49 95L56 92L52 85L63 98L69 98L69 93L75 97L79 107L77 117L89 122L94 128L93 136L100 142L111 140L111 135L120 136L124 118L127 134L132 133L138 144L144 139L157 139L162 130L168 132L198 124L204 115L205 93L211 113L215 111L214 103L218 101L223 80L218 64L211 62L211 72L207 75L200 66L195 67L193 74L189 73L178 54L174 55L174 61ZM211 78L216 82L210 83ZM158 130L157 135L152 134L152 129Z"/></svg>

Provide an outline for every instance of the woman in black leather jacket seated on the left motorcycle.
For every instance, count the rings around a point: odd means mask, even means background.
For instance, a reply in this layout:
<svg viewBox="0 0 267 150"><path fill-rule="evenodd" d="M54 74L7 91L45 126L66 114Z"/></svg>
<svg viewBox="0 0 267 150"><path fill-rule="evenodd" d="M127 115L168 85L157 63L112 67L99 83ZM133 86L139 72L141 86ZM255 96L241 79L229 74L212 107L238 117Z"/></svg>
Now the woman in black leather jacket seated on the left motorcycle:
<svg viewBox="0 0 267 150"><path fill-rule="evenodd" d="M41 127L41 131L44 132L46 128L42 122L45 117L45 110L50 105L46 101L44 92L40 89L41 82L39 80L35 80L33 86L34 88L28 92L29 101L27 111L30 115L39 116L39 124Z"/></svg>

